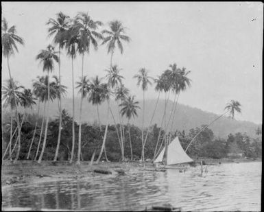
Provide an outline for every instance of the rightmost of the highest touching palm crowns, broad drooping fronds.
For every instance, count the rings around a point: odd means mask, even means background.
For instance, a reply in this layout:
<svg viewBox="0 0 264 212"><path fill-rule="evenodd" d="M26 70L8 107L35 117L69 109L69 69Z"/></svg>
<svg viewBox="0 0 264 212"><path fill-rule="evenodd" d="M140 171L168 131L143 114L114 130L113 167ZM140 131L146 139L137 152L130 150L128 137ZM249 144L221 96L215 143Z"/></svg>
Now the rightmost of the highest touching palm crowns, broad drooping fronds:
<svg viewBox="0 0 264 212"><path fill-rule="evenodd" d="M90 45L93 45L94 49L97 50L97 40L104 38L96 31L101 25L103 25L101 21L93 21L91 16L88 16L85 12L79 12L77 16L75 16L73 33L77 35L77 51L79 51L80 54L84 54L84 52L89 53Z"/></svg>

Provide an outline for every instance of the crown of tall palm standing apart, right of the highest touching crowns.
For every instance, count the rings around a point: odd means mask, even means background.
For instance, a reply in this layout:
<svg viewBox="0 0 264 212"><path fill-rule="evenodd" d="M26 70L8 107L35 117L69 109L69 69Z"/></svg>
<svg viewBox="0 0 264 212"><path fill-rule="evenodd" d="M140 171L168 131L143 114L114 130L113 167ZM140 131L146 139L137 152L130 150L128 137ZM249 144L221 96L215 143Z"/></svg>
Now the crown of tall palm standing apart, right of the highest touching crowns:
<svg viewBox="0 0 264 212"><path fill-rule="evenodd" d="M109 23L110 30L103 30L102 33L107 36L104 38L102 45L107 43L108 54L115 51L116 43L123 54L123 44L121 40L125 42L130 42L130 37L125 35L125 27L118 20L110 21Z"/></svg>

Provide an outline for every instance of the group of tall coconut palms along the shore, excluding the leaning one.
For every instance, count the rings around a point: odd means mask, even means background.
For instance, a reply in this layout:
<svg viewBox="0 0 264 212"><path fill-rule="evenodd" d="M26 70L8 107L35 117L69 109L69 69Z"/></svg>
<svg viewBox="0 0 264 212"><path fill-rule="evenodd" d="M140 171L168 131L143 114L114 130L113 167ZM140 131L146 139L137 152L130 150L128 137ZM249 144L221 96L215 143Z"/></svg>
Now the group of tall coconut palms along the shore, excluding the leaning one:
<svg viewBox="0 0 264 212"><path fill-rule="evenodd" d="M125 159L125 130L124 130L124 116L128 119L128 126L130 119L137 116L137 109L139 109L139 102L137 102L134 96L130 95L129 89L125 88L123 84L123 76L121 75L121 69L117 64L112 64L112 58L114 56L115 50L119 49L121 54L123 54L123 42L130 42L130 38L125 35L125 27L123 27L120 21L110 21L108 24L108 30L101 30L99 32L99 27L103 23L101 21L93 21L91 16L87 13L79 12L73 19L71 19L66 14L59 12L56 14L56 19L49 19L47 21L48 34L50 37L53 37L52 45L48 45L46 49L40 50L39 54L36 56L36 60L40 62L43 66L43 71L47 72L47 75L38 77L37 80L33 82L33 89L25 89L22 86L19 86L17 82L14 82L10 71L10 56L14 55L14 50L18 51L17 44L24 45L24 41L16 34L16 27L8 27L8 22L5 18L2 19L2 51L3 56L7 58L8 62L8 71L10 79L7 84L2 88L2 98L5 100L4 106L10 106L11 110L14 110L16 117L16 131L17 131L17 144L18 150L16 154L15 161L19 158L19 151L21 146L21 126L23 121L20 120L18 107L22 106L23 108L31 107L32 104L36 104L38 100L38 115L40 113L40 103L44 105L43 117L41 130L40 130L40 139L38 141L38 148L36 150L36 155L34 159L38 157L38 163L41 163L43 159L43 154L45 152L45 145L47 143L47 131L49 125L49 103L54 99L58 101L58 111L59 111L59 128L58 128L58 142L56 146L56 152L53 158L53 161L56 161L58 158L58 152L60 148L60 137L62 130L62 96L65 95L67 87L61 84L61 53L62 51L67 52L67 56L71 58L71 72L72 72L72 101L73 101L73 113L72 113L72 148L71 148L71 158L70 163L73 162L73 156L75 152L75 88L78 89L80 95L80 117L79 117L79 131L78 131L78 150L77 150L77 164L80 164L80 155L81 155L81 143L82 143L82 103L84 99L87 99L88 102L97 106L97 118L99 121L99 127L101 130L101 123L99 119L99 105L102 102L107 102L108 112L107 120L109 121L109 115L112 116L113 121L115 122L115 128L117 132L117 137L119 139L119 145L121 149L122 160ZM84 75L84 56L89 54L91 51L91 46L94 50L97 50L99 47L99 42L101 45L106 45L107 53L110 54L110 67L106 69L106 77L104 82L103 78L95 76L95 78L88 79ZM56 51L58 47L58 51ZM82 72L80 80L75 82L74 79L74 62L77 56L82 58ZM56 69L56 64L58 64L58 77L53 76L53 81L50 80L50 74ZM148 89L148 86L151 86L154 82L156 84L155 90L158 92L158 99L156 101L154 112L148 126L152 126L152 121L156 112L156 107L160 99L160 93L165 94L165 109L163 118L161 120L160 126L164 129L164 133L160 132L158 134L158 140L156 142L156 148L154 152L154 158L160 152L160 149L164 146L167 146L171 140L171 130L173 130L173 123L175 120L176 107L178 103L178 97L181 91L187 89L191 85L191 80L188 78L190 71L187 71L184 67L182 69L178 68L176 63L170 64L169 69L163 71L163 73L158 76L157 79L154 79L149 76L149 71L145 68L139 69L139 73L134 75L134 78L137 80L138 86L141 86L143 90L143 113L142 113L142 153L141 160L145 161L145 143L147 141L147 136L149 134L149 128L145 132L145 92ZM75 83L77 86L75 87ZM169 119L167 120L167 103L169 101L169 96L173 95L173 106L171 108L171 113ZM116 120L112 109L110 108L111 96L115 96L115 102L118 104L119 108L119 120ZM232 108L228 110L233 111ZM25 115L23 116L24 119ZM13 118L11 117L11 125ZM119 124L117 123L119 121ZM38 152L40 149L40 143L42 140L42 134L45 132L43 138L43 145L40 155ZM34 128L34 134L32 141L30 143L29 151L27 154L27 159L30 157L32 150L32 143L34 142L36 128L38 123L36 122ZM12 127L11 127L12 128ZM103 152L106 154L106 137L108 132L108 122L106 123L106 128L104 132L104 137L102 137L103 142L101 145L101 150L99 152L99 157L97 158L97 163L99 162ZM10 158L12 158L12 137L16 132L10 132ZM128 128L129 142L130 142L130 158L133 158L132 143L130 137L130 128ZM14 148L16 145L14 145ZM13 148L13 150L14 150ZM8 149L8 148L7 148ZM6 151L7 152L7 151Z"/></svg>

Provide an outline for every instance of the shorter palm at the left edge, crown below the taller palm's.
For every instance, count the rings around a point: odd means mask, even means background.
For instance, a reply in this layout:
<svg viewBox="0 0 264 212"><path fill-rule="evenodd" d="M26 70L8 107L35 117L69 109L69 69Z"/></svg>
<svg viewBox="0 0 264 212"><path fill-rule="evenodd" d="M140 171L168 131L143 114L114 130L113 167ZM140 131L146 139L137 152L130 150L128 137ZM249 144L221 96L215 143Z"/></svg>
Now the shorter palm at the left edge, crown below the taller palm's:
<svg viewBox="0 0 264 212"><path fill-rule="evenodd" d="M16 124L17 124L17 131L20 143L20 122L19 122L19 114L17 113L17 106L19 105L19 101L21 100L21 96L23 95L23 86L19 86L18 82L14 82L11 78L7 80L6 83L2 86L2 101L3 101L3 108L10 106L11 110L16 110ZM12 123L12 122L11 122ZM11 126L12 129L12 126ZM12 131L12 130L11 130ZM15 132L14 132L15 133ZM12 132L11 132L12 134ZM11 148L12 148L12 137L10 137L9 147L10 147L10 158L11 158ZM5 154L4 154L5 156ZM4 158L3 156L3 158Z"/></svg>

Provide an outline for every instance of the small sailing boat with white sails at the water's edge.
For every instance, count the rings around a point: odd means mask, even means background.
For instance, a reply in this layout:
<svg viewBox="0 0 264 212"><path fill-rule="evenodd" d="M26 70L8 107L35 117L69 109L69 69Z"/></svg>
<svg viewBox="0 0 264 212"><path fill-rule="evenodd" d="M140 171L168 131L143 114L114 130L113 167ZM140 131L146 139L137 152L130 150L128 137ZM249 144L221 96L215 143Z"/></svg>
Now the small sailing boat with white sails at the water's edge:
<svg viewBox="0 0 264 212"><path fill-rule="evenodd" d="M190 162L193 162L193 159L191 159L188 154L184 152L178 137L171 141L169 145L166 143L165 148L163 148L154 161L156 164L163 163L164 167L167 169L182 168ZM159 165L159 167L160 166L163 167L162 165Z"/></svg>

